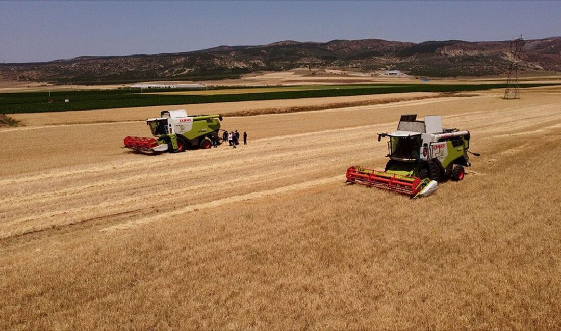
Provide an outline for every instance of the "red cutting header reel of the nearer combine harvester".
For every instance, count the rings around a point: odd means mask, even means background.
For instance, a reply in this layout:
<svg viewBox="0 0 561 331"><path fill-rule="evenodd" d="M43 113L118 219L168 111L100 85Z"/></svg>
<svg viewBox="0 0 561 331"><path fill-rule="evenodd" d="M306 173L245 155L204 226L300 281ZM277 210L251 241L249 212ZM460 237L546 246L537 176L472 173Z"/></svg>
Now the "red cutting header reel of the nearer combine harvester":
<svg viewBox="0 0 561 331"><path fill-rule="evenodd" d="M422 182L418 177L392 174L361 166L351 166L347 169L347 181L407 194L411 197L417 195L422 189Z"/></svg>

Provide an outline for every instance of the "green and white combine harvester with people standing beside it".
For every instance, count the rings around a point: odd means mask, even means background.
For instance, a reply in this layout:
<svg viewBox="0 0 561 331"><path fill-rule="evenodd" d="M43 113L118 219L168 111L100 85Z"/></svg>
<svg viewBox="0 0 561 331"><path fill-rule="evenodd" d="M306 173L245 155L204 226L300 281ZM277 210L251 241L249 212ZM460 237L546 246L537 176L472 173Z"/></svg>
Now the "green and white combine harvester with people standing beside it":
<svg viewBox="0 0 561 331"><path fill-rule="evenodd" d="M137 152L182 152L187 148L210 148L213 139L220 142L218 131L222 115L188 116L185 110L164 110L146 124L154 138L126 137L125 146Z"/></svg>

